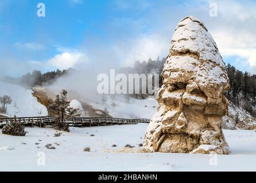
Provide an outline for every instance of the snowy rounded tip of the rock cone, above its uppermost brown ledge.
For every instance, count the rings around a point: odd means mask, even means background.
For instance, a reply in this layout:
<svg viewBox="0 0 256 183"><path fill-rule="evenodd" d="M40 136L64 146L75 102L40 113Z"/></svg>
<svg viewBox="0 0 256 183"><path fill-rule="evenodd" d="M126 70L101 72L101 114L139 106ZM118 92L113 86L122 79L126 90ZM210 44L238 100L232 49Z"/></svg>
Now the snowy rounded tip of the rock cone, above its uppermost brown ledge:
<svg viewBox="0 0 256 183"><path fill-rule="evenodd" d="M186 17L178 23L172 37L172 50L183 53L189 50L199 54L200 59L204 61L211 60L224 66L214 39L203 23L195 17Z"/></svg>

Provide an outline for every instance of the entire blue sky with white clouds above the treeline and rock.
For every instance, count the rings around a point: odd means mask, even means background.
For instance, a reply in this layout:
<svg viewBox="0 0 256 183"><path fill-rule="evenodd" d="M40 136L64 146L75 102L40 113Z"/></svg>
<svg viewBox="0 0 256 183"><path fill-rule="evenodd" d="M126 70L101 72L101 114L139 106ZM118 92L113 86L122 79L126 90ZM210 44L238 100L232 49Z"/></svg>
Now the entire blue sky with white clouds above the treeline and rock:
<svg viewBox="0 0 256 183"><path fill-rule="evenodd" d="M37 17L37 4L46 17ZM210 3L218 17L210 17ZM183 17L201 19L224 61L254 73L254 1L0 0L0 62L4 75L68 67L119 67L165 57Z"/></svg>

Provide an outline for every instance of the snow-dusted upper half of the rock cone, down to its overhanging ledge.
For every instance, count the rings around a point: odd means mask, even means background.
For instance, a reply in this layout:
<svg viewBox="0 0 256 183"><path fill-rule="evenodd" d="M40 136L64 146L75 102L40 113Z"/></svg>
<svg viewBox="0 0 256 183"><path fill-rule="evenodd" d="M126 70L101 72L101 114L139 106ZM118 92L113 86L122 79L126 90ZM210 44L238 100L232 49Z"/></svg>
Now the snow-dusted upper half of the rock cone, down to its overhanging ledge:
<svg viewBox="0 0 256 183"><path fill-rule="evenodd" d="M229 88L226 67L214 39L203 22L192 16L178 23L162 76L164 83L193 80L207 97L211 97L211 87L220 93Z"/></svg>

